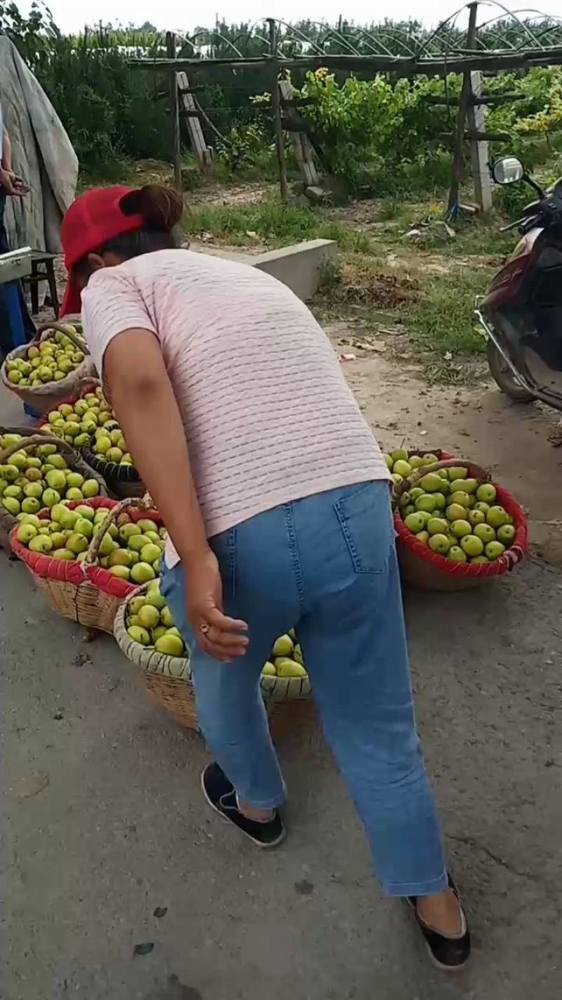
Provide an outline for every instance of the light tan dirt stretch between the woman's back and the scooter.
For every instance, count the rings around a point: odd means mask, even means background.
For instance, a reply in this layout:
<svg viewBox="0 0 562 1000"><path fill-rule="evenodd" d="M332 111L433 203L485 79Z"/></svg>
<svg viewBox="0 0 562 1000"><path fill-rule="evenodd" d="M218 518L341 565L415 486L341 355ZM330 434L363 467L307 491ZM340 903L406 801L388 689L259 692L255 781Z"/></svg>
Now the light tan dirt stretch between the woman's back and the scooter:
<svg viewBox="0 0 562 1000"><path fill-rule="evenodd" d="M341 323L325 329L338 353L356 354L345 375L380 444L443 448L489 469L525 507L534 552L562 566L559 415L512 403L491 381L428 385L409 355L396 358L391 335L373 339ZM355 347L363 342L371 349Z"/></svg>

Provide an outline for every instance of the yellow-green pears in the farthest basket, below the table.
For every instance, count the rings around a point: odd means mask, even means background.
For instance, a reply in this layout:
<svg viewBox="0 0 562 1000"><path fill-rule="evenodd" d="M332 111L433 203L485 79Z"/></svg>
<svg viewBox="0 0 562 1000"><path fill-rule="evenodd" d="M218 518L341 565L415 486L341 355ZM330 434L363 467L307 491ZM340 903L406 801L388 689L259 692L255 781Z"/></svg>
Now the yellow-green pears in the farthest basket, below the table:
<svg viewBox="0 0 562 1000"><path fill-rule="evenodd" d="M65 324L65 330L80 339L78 330L71 323ZM20 388L60 382L82 364L85 356L66 333L56 330L52 337L30 344L25 356L6 361L8 382Z"/></svg>

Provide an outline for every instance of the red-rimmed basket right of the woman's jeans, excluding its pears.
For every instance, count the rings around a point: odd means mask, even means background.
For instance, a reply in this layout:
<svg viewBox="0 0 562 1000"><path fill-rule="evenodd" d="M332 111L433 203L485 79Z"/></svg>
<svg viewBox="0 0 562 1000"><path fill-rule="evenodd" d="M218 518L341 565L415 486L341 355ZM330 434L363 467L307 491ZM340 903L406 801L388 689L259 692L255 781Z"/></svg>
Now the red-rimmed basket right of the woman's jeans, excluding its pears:
<svg viewBox="0 0 562 1000"><path fill-rule="evenodd" d="M421 454L422 452L417 450L409 452L410 456ZM397 536L396 551L402 580L418 590L464 590L503 576L523 559L528 548L528 532L527 518L523 508L507 490L497 483L493 484L496 488L497 503L504 507L513 518L515 539L499 559L494 559L493 562L461 563L446 559L438 552L433 552L423 542L419 542L415 535L406 528L397 502L402 493L415 486L428 472L438 472L439 469L456 466L467 469L468 475L480 482L492 481L490 473L474 462L454 458L453 455L440 450L433 452L433 454L439 458L438 462L415 469L407 479L403 479L393 489L394 528Z"/></svg>

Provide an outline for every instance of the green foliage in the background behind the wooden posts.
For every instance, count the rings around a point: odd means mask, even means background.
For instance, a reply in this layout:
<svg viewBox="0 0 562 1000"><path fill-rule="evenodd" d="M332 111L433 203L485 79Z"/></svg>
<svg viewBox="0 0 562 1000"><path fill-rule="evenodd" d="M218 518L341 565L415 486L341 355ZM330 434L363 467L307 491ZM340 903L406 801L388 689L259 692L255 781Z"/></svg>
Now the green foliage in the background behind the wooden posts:
<svg viewBox="0 0 562 1000"><path fill-rule="evenodd" d="M533 25L539 31L540 25ZM540 29L542 30L542 29ZM545 43L549 42L545 27ZM484 44L525 44L527 29L509 19L484 28ZM172 128L166 99L167 80L133 70L127 63L130 49L143 55L162 55L164 37L153 25L87 29L78 36L62 37L40 0L34 0L28 15L21 14L14 0L0 0L0 32L10 35L51 97L83 167L107 177L118 176L126 160L169 159ZM396 54L419 52L429 35L417 22L371 24L368 36L342 21L337 29L300 21L280 27L280 47L286 55L309 45L324 51L341 51L345 36L353 39L358 52L372 51L376 40L380 51ZM451 45L453 34L443 44ZM541 36L542 37L542 36ZM370 38L370 41L368 41ZM305 39L309 41L306 42ZM458 35L462 45L462 35ZM180 54L196 56L208 46L215 58L261 56L268 52L267 32L246 23L200 28L190 37L178 36ZM433 37L431 50L441 45ZM127 47L125 50L123 47ZM313 48L312 48L313 50ZM205 74L194 68L194 85L215 129L204 122L210 144L218 148L228 173L271 178L275 175L270 102L252 96L271 89L271 68L264 64L247 73L228 65L213 67ZM324 167L336 178L338 188L355 195L401 198L417 192L437 193L450 175L454 109L434 106L427 98L458 95L460 77L395 79L391 74L374 79L344 78L341 73L303 74L294 71L293 84L316 103L306 108L312 122ZM530 169L556 169L562 159L562 69L560 67L500 73L487 77L491 93L518 92L523 100L490 109L487 126L506 132L509 143L494 145L494 158L505 152L520 155ZM560 131L559 131L560 130ZM184 136L187 146L187 135ZM291 143L287 140L288 164ZM508 207L513 192L498 194ZM518 197L518 196L517 196Z"/></svg>

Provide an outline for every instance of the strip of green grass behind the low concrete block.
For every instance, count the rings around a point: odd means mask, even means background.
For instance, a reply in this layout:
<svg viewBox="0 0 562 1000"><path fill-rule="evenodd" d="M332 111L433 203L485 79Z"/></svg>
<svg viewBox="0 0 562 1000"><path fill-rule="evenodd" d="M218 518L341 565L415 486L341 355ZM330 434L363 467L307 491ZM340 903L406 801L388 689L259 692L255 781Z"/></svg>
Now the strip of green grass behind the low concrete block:
<svg viewBox="0 0 562 1000"><path fill-rule="evenodd" d="M251 244L258 236L274 246L324 239L335 240L344 250L366 252L370 248L368 236L351 226L326 219L311 208L284 205L274 199L256 204L195 206L187 213L184 228L193 236L212 233L235 246Z"/></svg>

